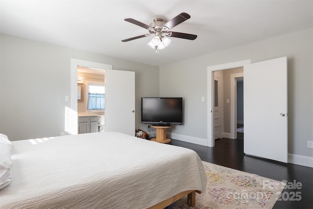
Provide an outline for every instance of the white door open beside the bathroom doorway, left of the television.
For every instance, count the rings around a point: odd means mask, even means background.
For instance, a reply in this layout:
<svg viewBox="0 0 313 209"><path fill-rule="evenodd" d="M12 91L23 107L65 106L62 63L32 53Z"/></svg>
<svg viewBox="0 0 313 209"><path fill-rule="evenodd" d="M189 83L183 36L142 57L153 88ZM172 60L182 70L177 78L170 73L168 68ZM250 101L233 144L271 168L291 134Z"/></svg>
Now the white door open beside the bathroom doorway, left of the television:
<svg viewBox="0 0 313 209"><path fill-rule="evenodd" d="M135 72L105 70L105 131L134 136Z"/></svg>

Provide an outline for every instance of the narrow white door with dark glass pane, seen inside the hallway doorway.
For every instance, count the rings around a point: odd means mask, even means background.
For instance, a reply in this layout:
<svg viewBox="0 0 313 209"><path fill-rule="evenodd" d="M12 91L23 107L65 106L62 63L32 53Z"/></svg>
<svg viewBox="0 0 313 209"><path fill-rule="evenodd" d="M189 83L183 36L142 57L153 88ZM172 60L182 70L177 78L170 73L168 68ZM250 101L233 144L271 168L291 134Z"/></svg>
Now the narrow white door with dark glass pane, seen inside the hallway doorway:
<svg viewBox="0 0 313 209"><path fill-rule="evenodd" d="M220 99L220 78L214 76L214 139L221 138Z"/></svg>

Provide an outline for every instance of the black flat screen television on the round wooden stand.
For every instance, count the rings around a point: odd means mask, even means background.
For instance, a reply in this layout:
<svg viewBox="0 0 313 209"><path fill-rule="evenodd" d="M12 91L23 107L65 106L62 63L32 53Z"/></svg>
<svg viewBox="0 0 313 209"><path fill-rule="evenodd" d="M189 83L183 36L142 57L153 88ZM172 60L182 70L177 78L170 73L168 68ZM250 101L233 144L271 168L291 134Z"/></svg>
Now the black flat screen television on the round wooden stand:
<svg viewBox="0 0 313 209"><path fill-rule="evenodd" d="M141 123L182 124L182 97L141 97Z"/></svg>

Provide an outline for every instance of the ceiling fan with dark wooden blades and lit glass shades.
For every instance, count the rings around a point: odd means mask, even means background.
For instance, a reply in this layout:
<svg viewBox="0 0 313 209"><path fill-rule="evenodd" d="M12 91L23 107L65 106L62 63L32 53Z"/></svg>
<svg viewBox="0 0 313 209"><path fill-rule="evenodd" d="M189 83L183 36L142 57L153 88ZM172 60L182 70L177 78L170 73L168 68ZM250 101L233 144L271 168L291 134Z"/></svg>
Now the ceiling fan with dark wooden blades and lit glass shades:
<svg viewBox="0 0 313 209"><path fill-rule="evenodd" d="M161 18L156 18L149 25L136 21L132 18L124 19L125 21L129 23L133 23L140 27L148 29L149 33L140 35L140 36L135 36L129 39L124 39L122 40L122 42L128 42L128 41L132 41L135 39L155 35L155 37L148 43L148 46L156 49L156 53L158 54L159 49L163 49L171 43L171 39L168 39L167 37L175 37L175 38L188 39L188 40L195 40L197 38L197 35L170 31L170 29L188 20L189 18L190 18L190 15L183 12L183 13L180 13L175 18L173 18L172 20L168 21L167 23L165 23L163 19Z"/></svg>

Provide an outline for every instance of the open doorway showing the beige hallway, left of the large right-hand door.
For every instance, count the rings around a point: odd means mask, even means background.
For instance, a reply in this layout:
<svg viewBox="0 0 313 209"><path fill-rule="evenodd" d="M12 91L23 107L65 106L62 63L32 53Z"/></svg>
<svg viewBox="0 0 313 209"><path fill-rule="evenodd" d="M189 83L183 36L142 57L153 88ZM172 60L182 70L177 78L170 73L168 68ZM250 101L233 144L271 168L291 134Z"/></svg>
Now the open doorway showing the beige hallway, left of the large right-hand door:
<svg viewBox="0 0 313 209"><path fill-rule="evenodd" d="M213 76L214 139L243 139L243 68L217 70Z"/></svg>

